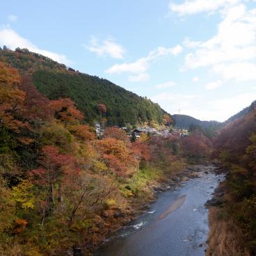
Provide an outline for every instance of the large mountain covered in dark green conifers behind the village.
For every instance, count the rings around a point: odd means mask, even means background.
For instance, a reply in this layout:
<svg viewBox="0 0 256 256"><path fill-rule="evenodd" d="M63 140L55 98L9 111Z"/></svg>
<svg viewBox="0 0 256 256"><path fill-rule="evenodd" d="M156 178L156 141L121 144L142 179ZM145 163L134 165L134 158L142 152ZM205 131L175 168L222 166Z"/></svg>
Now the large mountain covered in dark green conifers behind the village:
<svg viewBox="0 0 256 256"><path fill-rule="evenodd" d="M162 123L166 111L146 97L140 97L106 79L83 74L28 49L0 48L0 61L33 78L35 87L49 99L70 97L86 115L86 122L106 118L109 125ZM102 116L98 105L106 105Z"/></svg>

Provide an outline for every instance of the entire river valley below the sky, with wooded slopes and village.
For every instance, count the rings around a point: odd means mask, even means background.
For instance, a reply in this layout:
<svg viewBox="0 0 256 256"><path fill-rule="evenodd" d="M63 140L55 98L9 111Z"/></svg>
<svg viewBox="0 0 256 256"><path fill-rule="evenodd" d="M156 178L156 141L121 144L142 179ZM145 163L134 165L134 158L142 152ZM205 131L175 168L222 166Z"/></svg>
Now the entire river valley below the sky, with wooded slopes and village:
<svg viewBox="0 0 256 256"><path fill-rule="evenodd" d="M6 47L0 102L1 256L255 255L255 102L170 115Z"/></svg>

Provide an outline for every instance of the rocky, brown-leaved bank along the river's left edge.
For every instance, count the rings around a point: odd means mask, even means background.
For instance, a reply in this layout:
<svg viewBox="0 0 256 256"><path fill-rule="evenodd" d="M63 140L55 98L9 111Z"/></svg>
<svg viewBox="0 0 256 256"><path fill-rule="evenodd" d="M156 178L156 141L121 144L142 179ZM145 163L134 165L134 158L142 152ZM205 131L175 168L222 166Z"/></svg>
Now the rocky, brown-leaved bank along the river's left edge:
<svg viewBox="0 0 256 256"><path fill-rule="evenodd" d="M104 241L108 241L109 237L111 237L113 233L120 230L120 228L129 225L131 221L134 221L138 216L143 214L145 211L148 211L152 202L155 202L161 193L170 189L175 189L189 179L194 179L202 176L203 174L214 171L216 171L216 167L211 163L206 166L187 166L182 170L182 172L173 176L166 176L154 182L154 184L150 184L148 189L150 189L151 193L143 198L143 200L141 200L141 198L131 198L129 206L126 209L111 207L108 211L104 211L104 213L99 216L99 218L104 221L104 224L100 224L102 221L99 222L99 230L97 230L96 233L97 239L95 239L97 240L97 243L87 243L86 255L93 255L93 251L104 243Z"/></svg>

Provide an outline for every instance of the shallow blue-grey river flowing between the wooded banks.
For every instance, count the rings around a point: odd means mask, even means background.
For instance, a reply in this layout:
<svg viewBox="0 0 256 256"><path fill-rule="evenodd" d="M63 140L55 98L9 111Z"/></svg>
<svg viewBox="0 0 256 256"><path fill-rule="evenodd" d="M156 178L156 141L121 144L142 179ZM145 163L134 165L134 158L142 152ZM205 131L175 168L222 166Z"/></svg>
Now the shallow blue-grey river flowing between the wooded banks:
<svg viewBox="0 0 256 256"><path fill-rule="evenodd" d="M204 205L224 178L209 169L214 166L200 166L200 177L161 193L145 214L113 234L95 256L205 255L209 224Z"/></svg>

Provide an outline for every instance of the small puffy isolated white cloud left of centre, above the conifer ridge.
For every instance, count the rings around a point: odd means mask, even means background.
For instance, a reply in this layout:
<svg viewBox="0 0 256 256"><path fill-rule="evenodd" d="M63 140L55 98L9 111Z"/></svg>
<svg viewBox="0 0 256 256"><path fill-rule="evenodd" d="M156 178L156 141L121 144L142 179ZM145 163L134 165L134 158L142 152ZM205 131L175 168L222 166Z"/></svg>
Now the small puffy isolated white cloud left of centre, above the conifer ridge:
<svg viewBox="0 0 256 256"><path fill-rule="evenodd" d="M112 58L123 58L125 54L125 48L115 42L113 38L108 38L102 43L99 43L97 38L93 37L90 40L90 45L83 45L91 52L94 52L98 56L111 56Z"/></svg>

